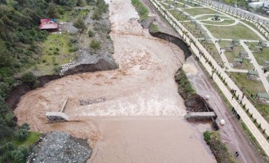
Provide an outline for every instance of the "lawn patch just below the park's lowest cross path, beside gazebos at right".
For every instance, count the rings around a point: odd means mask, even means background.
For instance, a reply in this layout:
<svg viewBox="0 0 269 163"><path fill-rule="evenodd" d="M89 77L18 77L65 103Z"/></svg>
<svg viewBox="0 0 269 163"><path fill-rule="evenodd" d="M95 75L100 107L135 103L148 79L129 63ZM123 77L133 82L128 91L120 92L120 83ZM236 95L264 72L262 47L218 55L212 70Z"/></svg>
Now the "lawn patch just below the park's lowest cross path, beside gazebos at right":
<svg viewBox="0 0 269 163"><path fill-rule="evenodd" d="M258 91L266 92L263 84L260 81L246 79L246 73L230 72L236 84L241 88L244 86L249 95L257 94Z"/></svg>

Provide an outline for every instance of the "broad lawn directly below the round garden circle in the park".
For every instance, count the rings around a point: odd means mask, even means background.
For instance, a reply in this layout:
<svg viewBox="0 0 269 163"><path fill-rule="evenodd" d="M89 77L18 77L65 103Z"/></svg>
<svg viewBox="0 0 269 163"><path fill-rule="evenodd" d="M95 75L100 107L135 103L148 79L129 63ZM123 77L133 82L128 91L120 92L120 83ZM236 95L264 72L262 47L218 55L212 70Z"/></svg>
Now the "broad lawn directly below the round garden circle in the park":
<svg viewBox="0 0 269 163"><path fill-rule="evenodd" d="M229 27L206 26L206 28L210 30L215 38L258 40L258 35L241 23Z"/></svg>

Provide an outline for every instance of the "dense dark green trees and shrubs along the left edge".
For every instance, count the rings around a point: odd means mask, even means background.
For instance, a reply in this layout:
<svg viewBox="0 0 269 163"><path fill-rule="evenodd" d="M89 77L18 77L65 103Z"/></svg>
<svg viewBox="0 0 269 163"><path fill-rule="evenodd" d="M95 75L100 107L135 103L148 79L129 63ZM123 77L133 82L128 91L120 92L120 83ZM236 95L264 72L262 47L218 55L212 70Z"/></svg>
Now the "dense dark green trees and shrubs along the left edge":
<svg viewBox="0 0 269 163"><path fill-rule="evenodd" d="M100 9L104 3L98 1ZM38 28L40 18L58 18L73 6L84 4L96 4L96 1L0 0L0 162L25 162L30 146L40 137L39 133L28 131L28 124L17 125L16 117L5 103L18 83L14 74L27 72L21 75L21 80L31 88L39 84L28 69L40 62L40 44L47 38L47 32ZM101 11L106 9L107 6Z"/></svg>

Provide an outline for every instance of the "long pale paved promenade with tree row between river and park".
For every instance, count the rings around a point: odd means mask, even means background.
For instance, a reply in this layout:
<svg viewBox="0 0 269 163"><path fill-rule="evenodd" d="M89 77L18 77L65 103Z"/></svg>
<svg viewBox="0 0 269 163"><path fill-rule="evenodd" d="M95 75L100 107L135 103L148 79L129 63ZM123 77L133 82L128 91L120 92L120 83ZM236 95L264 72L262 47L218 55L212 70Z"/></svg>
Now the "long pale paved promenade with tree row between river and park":
<svg viewBox="0 0 269 163"><path fill-rule="evenodd" d="M154 1L154 3L158 4L158 6L161 6L161 4L158 1L155 0L150 0L151 2ZM178 33L180 35L183 36L183 32L182 31L188 31L180 22L178 22L176 20L176 18L174 18L170 13L167 13L166 15L166 9L164 9L164 7L157 7L157 9L162 10L161 13L164 15L165 18L168 19L168 22L171 23L172 26L175 27L175 24L173 22L176 23L176 26L180 27L181 30L178 29ZM177 30L177 29L176 29ZM202 45L199 43L198 39L195 38L189 31L188 31L188 35L190 38L192 38L195 43L197 43L199 50L202 50L202 52L205 53L205 56L212 62L212 65L217 69L218 72L221 73L222 77L227 81L227 85L229 86L230 89L235 89L236 90L236 94L238 94L239 96L242 96L242 92L241 90L238 88L238 86L236 86L236 84L234 84L234 81L232 81L228 75L224 72L224 69L222 69L222 67L219 67L219 65L217 64L217 62L212 58L212 56L209 54L209 52L207 52L207 50L205 50L205 47L202 47ZM190 39L186 38L187 43L190 43ZM200 61L202 62L202 64L205 66L205 69L207 69L207 72L209 72L211 74L212 72L212 67L210 67L209 64L207 64L207 62L205 62L205 59L203 57L201 57L199 55L199 50L197 47L195 47L195 45L191 44L190 47L192 48L193 52L195 53L195 55L197 55L198 57L200 57ZM267 142L267 140L265 140L265 137L263 137L263 135L261 135L261 132L258 130L258 128L256 127L256 125L253 124L252 120L246 115L245 111L243 110L243 108L241 108L241 106L239 105L239 103L237 101L235 101L234 99L232 99L232 95L230 93L230 91L227 89L227 86L225 86L222 81L219 79L219 77L215 76L214 81L217 83L217 85L219 86L219 88L222 90L222 92L224 93L224 96L227 97L227 99L229 100L229 102L231 103L231 105L234 108L237 108L239 115L241 116L242 120L244 121L244 123L246 124L246 126L251 130L251 133L254 135L254 137L256 137L256 140L259 142L259 144L261 145L261 147L263 147L263 150L265 150L266 154L269 155L269 143ZM250 101L248 101L248 99L246 99L246 97L244 99L242 99L242 103L246 103L246 108L249 108L249 112L253 113L253 117L257 119L258 123L261 123L261 127L263 129L265 129L265 133L269 133L269 125L266 122L266 120L261 116L260 113L258 113L258 111L256 110L256 108L252 105L252 103ZM269 134L268 134L269 135Z"/></svg>

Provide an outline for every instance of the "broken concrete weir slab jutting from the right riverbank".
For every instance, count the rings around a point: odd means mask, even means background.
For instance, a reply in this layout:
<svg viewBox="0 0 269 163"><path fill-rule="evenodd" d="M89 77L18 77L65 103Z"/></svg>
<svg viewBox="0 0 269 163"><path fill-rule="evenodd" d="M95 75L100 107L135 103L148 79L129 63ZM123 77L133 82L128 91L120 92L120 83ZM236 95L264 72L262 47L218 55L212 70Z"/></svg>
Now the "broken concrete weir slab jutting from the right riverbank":
<svg viewBox="0 0 269 163"><path fill-rule="evenodd" d="M187 120L210 120L212 118L216 118L216 114L212 112L192 112L192 113L187 113L185 116L185 119Z"/></svg>

